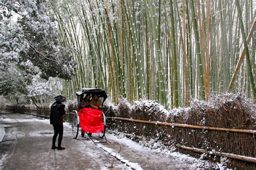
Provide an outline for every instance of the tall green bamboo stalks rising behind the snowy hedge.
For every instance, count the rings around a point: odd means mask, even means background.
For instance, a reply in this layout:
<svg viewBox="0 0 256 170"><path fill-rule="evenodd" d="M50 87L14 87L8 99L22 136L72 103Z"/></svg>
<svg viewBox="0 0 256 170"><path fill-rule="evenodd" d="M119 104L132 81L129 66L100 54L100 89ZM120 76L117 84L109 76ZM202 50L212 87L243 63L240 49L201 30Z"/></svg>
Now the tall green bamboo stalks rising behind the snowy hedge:
<svg viewBox="0 0 256 170"><path fill-rule="evenodd" d="M254 0L50 0L62 47L76 66L63 95L102 88L118 104L186 107L211 94L255 95Z"/></svg>

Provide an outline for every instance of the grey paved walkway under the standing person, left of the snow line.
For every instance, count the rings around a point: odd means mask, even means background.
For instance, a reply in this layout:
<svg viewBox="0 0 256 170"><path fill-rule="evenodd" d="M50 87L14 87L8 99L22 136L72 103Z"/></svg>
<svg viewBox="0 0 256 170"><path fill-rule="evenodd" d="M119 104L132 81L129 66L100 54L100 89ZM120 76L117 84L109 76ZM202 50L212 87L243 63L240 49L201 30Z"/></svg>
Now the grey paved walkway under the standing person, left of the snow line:
<svg viewBox="0 0 256 170"><path fill-rule="evenodd" d="M21 114L0 114L0 120L6 133L0 143L0 169L127 168L90 141L71 138L66 127L66 149L58 151L51 150L53 128L45 120Z"/></svg>

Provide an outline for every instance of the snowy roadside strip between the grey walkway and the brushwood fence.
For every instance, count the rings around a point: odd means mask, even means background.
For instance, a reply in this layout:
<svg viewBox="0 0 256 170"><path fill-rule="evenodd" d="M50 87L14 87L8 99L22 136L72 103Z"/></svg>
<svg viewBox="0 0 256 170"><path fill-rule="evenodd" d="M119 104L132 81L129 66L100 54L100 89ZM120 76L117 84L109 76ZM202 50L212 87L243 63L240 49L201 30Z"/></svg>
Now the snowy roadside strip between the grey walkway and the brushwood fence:
<svg viewBox="0 0 256 170"><path fill-rule="evenodd" d="M69 123L65 123L64 125L71 129L71 125ZM187 154L169 150L169 148L163 149L163 147L156 146L161 145L160 143L152 144L156 147L145 147L136 141L126 138L122 133L117 135L115 133L106 132L106 138L108 141L107 144L97 144L98 147L102 148L105 152L109 153L121 162L124 162L127 166L135 169L140 169L140 166L146 166L146 169L150 168L146 165L149 163L147 160L151 161L150 166L153 169L220 168L221 165L223 165L223 163L214 164L211 161L200 160ZM123 154L125 156L123 156ZM143 158L145 155L146 157ZM136 162L136 160L138 162ZM154 166L152 167L152 165Z"/></svg>

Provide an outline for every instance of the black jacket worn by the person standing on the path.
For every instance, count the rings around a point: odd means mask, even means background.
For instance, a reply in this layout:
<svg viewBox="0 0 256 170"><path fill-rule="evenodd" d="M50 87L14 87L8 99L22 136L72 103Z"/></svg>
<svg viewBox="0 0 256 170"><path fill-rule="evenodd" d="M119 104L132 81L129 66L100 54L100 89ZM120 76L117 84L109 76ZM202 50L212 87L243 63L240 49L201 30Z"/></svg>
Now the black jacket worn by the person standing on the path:
<svg viewBox="0 0 256 170"><path fill-rule="evenodd" d="M50 124L52 125L63 124L62 115L65 114L64 108L65 108L65 105L60 102L54 102L51 105Z"/></svg>

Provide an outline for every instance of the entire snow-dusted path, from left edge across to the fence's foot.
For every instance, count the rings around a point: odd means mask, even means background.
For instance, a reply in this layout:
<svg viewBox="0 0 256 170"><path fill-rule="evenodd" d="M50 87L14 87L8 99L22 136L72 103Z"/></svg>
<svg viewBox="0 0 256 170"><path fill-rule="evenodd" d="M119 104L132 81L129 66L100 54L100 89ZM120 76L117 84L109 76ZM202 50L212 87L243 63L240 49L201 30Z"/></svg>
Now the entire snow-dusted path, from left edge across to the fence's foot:
<svg viewBox="0 0 256 170"><path fill-rule="evenodd" d="M130 139L106 133L106 144L71 137L64 124L63 146L51 150L53 135L49 120L21 114L0 114L0 169L173 169L216 168L216 164L177 152L151 150ZM2 131L1 131L2 133ZM3 136L3 135L2 135ZM0 136L1 137L1 136ZM95 138L97 139L97 138ZM117 159L118 158L118 159Z"/></svg>

